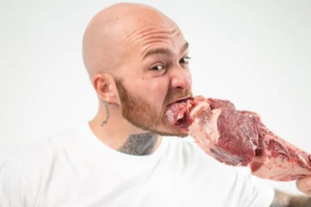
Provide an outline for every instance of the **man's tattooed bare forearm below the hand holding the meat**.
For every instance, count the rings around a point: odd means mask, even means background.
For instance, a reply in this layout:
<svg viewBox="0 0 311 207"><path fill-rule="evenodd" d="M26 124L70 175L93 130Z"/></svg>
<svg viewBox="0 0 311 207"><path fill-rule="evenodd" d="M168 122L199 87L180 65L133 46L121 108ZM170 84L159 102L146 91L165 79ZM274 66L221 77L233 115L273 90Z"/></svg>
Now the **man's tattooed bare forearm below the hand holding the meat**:
<svg viewBox="0 0 311 207"><path fill-rule="evenodd" d="M305 196L293 196L275 190L275 196L270 207L308 207L311 206L311 198Z"/></svg>

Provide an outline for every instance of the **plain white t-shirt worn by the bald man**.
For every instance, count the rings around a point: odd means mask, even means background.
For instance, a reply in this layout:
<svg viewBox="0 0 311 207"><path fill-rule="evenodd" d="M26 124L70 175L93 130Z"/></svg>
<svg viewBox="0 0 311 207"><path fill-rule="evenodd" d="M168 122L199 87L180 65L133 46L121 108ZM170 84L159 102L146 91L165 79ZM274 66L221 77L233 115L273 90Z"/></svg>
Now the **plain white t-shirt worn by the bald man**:
<svg viewBox="0 0 311 207"><path fill-rule="evenodd" d="M163 137L152 155L103 144L88 123L11 155L0 166L0 206L270 206L274 188L226 166L190 138Z"/></svg>

